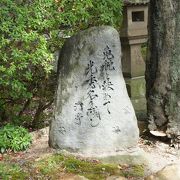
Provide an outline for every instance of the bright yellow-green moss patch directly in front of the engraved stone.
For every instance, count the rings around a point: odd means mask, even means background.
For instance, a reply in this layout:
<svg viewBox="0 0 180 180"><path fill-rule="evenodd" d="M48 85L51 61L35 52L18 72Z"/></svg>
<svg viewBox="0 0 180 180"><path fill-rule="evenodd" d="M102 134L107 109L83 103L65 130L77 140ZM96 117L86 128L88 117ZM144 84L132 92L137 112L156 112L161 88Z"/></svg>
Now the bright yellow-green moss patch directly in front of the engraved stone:
<svg viewBox="0 0 180 180"><path fill-rule="evenodd" d="M87 177L88 179L101 180L111 175L124 177L143 177L143 166L122 166L112 164L101 164L81 160L73 156L63 156L56 154L45 158L35 164L35 168L39 169L44 175L54 177L60 170L67 173L78 174Z"/></svg>

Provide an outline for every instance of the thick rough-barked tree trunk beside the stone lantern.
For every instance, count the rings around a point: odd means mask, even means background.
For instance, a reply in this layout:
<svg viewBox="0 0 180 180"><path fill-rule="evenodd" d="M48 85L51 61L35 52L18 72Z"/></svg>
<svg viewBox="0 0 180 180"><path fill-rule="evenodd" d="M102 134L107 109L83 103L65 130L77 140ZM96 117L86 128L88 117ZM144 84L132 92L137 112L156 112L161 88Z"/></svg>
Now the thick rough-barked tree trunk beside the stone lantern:
<svg viewBox="0 0 180 180"><path fill-rule="evenodd" d="M149 129L180 135L180 1L151 0L149 20Z"/></svg>

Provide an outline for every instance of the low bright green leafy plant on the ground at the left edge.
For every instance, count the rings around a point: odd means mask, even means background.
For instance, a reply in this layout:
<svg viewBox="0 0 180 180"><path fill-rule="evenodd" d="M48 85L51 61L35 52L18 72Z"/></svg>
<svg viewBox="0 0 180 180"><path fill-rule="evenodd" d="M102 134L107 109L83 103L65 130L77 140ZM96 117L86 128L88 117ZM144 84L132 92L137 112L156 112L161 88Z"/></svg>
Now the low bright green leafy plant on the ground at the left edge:
<svg viewBox="0 0 180 180"><path fill-rule="evenodd" d="M7 124L0 128L0 152L4 153L7 150L21 151L26 150L32 141L29 132L19 126Z"/></svg>

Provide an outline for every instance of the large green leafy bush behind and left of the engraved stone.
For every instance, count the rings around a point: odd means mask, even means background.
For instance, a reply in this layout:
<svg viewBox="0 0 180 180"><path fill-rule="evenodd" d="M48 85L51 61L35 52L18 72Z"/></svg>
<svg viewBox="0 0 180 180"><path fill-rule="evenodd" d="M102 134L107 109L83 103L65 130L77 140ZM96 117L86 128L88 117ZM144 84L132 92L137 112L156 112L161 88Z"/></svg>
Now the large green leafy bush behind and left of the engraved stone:
<svg viewBox="0 0 180 180"><path fill-rule="evenodd" d="M81 29L118 27L122 0L1 0L0 7L0 124L35 127L53 102L54 52Z"/></svg>

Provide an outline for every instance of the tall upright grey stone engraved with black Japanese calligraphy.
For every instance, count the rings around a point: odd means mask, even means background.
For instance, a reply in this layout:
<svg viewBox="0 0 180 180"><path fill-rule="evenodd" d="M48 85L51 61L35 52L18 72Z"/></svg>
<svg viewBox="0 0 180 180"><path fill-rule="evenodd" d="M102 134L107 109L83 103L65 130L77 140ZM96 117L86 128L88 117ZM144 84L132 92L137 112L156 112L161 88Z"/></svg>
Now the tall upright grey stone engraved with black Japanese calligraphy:
<svg viewBox="0 0 180 180"><path fill-rule="evenodd" d="M61 50L50 146L88 157L133 149L139 130L121 71L121 46L112 27L71 37Z"/></svg>

